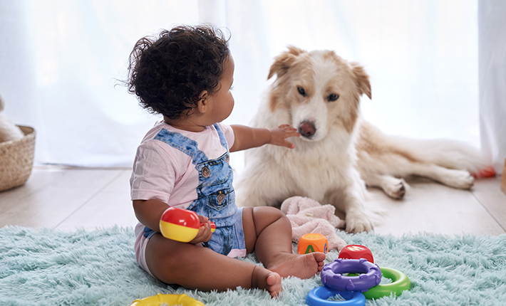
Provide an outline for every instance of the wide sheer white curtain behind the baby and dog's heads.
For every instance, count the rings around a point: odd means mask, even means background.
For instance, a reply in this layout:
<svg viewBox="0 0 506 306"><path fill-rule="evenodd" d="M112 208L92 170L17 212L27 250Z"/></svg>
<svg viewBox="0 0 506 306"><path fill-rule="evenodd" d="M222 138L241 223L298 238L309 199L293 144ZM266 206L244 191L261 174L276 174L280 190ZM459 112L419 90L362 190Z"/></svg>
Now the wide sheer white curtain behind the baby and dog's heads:
<svg viewBox="0 0 506 306"><path fill-rule="evenodd" d="M247 123L287 45L361 63L367 120L391 134L480 147L477 0L0 0L0 95L37 131L36 162L130 166L159 117L116 79L142 36L211 22L232 35L236 106ZM227 31L227 30L225 30ZM232 162L242 167L242 156Z"/></svg>

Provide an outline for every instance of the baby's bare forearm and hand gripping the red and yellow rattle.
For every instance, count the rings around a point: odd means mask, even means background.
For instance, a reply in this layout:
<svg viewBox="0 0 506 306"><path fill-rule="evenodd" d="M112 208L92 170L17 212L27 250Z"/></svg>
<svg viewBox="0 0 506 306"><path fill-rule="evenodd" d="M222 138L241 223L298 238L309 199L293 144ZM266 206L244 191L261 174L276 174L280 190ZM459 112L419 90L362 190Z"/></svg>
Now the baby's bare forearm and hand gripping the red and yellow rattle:
<svg viewBox="0 0 506 306"><path fill-rule="evenodd" d="M135 216L148 228L151 228L153 231L157 231L160 233L160 218L162 218L162 213L165 209L168 209L169 206L162 201L158 201L155 199L151 200L134 200L133 201L133 210L135 211ZM190 241L189 243L201 243L210 241L212 232L211 225L207 217L199 215L199 221L204 223L204 226L199 228L199 232L197 236Z"/></svg>

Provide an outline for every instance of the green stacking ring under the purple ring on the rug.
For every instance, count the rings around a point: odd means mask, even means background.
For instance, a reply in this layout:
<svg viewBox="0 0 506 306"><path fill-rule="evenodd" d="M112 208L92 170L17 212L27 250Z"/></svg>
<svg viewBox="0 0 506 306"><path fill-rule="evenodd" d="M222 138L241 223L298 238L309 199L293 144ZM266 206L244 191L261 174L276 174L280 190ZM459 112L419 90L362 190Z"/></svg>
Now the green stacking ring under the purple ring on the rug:
<svg viewBox="0 0 506 306"><path fill-rule="evenodd" d="M404 290L409 290L411 287L411 282L406 274L401 271L394 270L391 268L380 267L381 274L383 274L383 278L390 278L392 283L385 285L377 285L376 287L372 287L371 289L363 292L363 295L366 299L379 299L381 297L388 297L393 293L396 296L402 294Z"/></svg>

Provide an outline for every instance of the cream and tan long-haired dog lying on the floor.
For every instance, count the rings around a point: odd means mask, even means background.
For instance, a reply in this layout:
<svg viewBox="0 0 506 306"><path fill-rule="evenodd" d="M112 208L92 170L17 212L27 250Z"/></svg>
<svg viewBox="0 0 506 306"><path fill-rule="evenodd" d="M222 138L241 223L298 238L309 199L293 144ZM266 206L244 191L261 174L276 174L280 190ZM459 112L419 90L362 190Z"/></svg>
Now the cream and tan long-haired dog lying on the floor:
<svg viewBox="0 0 506 306"><path fill-rule="evenodd" d="M414 140L384 134L363 120L360 99L371 99L364 68L334 51L289 46L274 58L276 75L252 120L253 127L289 123L301 137L294 149L263 146L245 152L238 175L238 206L277 206L291 196L332 204L344 213L346 231L373 230L364 206L366 186L394 199L406 194L406 176L426 176L458 189L473 185L485 167L480 152L461 142Z"/></svg>

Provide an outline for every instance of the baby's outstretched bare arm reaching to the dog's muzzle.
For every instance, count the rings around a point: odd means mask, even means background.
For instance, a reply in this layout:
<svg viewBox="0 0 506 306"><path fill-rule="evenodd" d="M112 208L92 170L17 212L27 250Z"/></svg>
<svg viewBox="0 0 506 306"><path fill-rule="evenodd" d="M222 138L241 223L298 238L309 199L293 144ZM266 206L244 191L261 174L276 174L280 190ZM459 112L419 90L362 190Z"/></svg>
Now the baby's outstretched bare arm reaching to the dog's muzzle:
<svg viewBox="0 0 506 306"><path fill-rule="evenodd" d="M231 125L234 130L234 145L230 152L241 151L254 147L261 147L264 144L274 144L277 146L293 149L295 146L287 141L288 137L299 137L301 134L290 125L280 125L276 129L262 129L257 127L247 127L244 125Z"/></svg>

